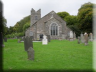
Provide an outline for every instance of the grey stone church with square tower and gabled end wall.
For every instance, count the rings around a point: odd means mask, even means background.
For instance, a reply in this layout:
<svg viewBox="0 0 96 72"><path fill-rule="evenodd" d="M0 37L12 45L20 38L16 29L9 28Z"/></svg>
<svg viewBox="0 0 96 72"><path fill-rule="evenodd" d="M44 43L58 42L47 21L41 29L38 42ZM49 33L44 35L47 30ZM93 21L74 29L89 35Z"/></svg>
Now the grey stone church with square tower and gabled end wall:
<svg viewBox="0 0 96 72"><path fill-rule="evenodd" d="M39 40L41 34L50 35L51 39L68 39L70 31L66 22L54 11L41 18L41 9L35 11L32 8L31 23L25 36L33 36L34 40Z"/></svg>

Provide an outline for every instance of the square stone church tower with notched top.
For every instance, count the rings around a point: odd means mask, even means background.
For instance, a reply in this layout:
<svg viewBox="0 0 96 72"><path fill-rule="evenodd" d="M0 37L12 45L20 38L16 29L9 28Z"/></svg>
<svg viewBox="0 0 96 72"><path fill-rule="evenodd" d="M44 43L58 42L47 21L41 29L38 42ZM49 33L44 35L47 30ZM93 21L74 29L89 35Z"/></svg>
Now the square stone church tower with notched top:
<svg viewBox="0 0 96 72"><path fill-rule="evenodd" d="M31 10L31 24L30 24L30 26L32 26L40 18L41 18L41 9L39 9L38 11L35 11L32 8L32 10Z"/></svg>

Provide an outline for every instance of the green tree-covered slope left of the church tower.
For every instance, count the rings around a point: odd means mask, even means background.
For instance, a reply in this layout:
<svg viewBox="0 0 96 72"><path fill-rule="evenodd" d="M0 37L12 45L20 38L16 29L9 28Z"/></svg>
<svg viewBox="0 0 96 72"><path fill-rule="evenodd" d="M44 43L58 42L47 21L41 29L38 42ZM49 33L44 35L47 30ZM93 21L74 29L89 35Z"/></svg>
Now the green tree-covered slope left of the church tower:
<svg viewBox="0 0 96 72"><path fill-rule="evenodd" d="M26 25L27 24L27 25ZM17 36L24 36L23 28L28 28L30 24L30 15L17 22L14 26L5 27L7 30L6 37L14 38ZM23 27L24 26L24 27Z"/></svg>

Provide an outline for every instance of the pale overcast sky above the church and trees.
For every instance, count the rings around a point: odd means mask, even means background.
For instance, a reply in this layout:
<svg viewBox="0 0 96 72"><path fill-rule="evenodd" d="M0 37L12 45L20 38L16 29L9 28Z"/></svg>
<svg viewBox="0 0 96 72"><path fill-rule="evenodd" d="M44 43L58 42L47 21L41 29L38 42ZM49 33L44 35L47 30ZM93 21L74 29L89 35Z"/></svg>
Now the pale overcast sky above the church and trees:
<svg viewBox="0 0 96 72"><path fill-rule="evenodd" d="M77 15L82 4L96 0L1 0L3 2L3 16L7 19L7 26L14 26L18 21L30 15L30 11L41 9L41 17L50 11L66 11L70 15Z"/></svg>

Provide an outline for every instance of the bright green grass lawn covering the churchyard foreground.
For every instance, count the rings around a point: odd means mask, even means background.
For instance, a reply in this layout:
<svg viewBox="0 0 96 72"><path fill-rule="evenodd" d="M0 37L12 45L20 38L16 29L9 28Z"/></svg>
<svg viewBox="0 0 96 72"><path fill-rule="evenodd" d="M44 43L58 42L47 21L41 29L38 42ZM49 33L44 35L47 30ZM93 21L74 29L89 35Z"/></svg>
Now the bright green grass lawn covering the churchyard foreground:
<svg viewBox="0 0 96 72"><path fill-rule="evenodd" d="M51 40L48 45L34 42L35 60L28 60L24 43L17 39L4 42L3 69L4 70L91 70L92 42L88 46L78 44L77 40Z"/></svg>

